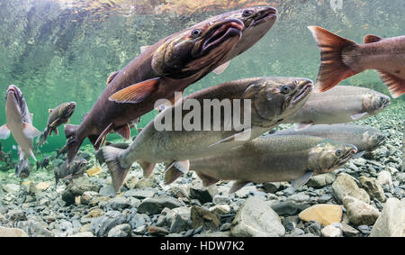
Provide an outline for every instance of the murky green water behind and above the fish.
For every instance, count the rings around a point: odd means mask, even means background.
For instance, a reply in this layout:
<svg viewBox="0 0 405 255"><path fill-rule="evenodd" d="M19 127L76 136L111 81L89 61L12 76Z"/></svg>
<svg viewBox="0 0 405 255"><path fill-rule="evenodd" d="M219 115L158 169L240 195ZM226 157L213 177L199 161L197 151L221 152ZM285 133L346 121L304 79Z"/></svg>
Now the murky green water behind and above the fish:
<svg viewBox="0 0 405 255"><path fill-rule="evenodd" d="M193 2L193 1L192 1ZM330 1L267 1L279 11L279 19L266 37L233 59L221 75L210 74L188 87L186 94L224 81L258 76L309 77L318 75L320 52L308 25L319 25L353 41L368 33L382 37L405 34L405 2L343 0L333 10ZM139 54L139 47L153 44L193 23L229 10L266 1L215 1L193 8L190 1L0 1L0 93L10 84L20 87L40 131L48 109L76 101L70 122L80 123L105 88L113 71ZM229 4L230 3L230 4ZM189 6L188 6L189 5ZM194 12L191 12L191 11ZM365 71L342 84L370 87L388 95L374 70ZM392 100L404 104L405 96ZM155 113L142 117L143 126ZM0 101L0 124L5 122ZM63 127L49 137L42 152L65 144ZM109 139L118 138L109 135ZM12 150L13 138L1 141ZM88 141L86 141L88 142ZM15 151L14 151L15 154ZM40 155L39 155L40 158Z"/></svg>

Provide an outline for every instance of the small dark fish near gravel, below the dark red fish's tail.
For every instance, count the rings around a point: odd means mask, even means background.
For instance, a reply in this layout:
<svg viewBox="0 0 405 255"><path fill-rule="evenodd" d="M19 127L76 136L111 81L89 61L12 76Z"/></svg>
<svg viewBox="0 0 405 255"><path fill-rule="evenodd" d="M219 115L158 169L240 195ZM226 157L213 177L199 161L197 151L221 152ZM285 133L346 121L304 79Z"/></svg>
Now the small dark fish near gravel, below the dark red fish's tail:
<svg viewBox="0 0 405 255"><path fill-rule="evenodd" d="M56 185L58 185L58 181L61 178L64 178L64 179L79 178L80 176L82 176L85 173L86 166L87 166L87 160L79 158L79 157L76 157L70 166L68 166L67 161L65 161L58 168L54 168Z"/></svg>

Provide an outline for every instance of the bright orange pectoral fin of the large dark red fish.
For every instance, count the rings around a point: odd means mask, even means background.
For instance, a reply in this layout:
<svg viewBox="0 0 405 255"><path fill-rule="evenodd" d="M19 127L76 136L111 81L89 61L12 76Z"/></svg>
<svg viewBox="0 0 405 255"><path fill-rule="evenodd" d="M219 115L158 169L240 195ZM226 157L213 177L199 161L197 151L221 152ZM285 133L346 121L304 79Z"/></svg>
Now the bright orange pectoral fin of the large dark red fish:
<svg viewBox="0 0 405 255"><path fill-rule="evenodd" d="M140 103L157 89L159 81L160 77L156 77L136 83L112 94L109 99L115 103Z"/></svg>

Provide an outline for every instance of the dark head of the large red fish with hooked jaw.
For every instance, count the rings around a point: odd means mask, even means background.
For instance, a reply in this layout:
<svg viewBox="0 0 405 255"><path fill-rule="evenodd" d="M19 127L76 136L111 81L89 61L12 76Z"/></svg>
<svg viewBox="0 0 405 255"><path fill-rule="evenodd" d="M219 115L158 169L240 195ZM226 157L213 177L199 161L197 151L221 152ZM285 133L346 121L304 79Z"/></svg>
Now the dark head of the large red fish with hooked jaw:
<svg viewBox="0 0 405 255"><path fill-rule="evenodd" d="M152 68L160 76L177 79L192 76L203 68L216 68L234 49L243 28L238 19L221 19L175 33L153 54Z"/></svg>

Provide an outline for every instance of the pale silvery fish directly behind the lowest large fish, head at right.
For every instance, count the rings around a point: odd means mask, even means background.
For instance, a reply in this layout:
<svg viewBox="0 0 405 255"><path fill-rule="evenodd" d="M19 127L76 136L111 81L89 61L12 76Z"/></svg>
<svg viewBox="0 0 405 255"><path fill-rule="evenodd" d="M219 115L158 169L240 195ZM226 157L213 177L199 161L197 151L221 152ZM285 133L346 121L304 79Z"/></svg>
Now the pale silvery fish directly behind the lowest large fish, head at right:
<svg viewBox="0 0 405 255"><path fill-rule="evenodd" d="M375 150L386 140L386 135L383 132L356 124L320 124L298 131L290 128L274 132L269 136L299 135L317 136L333 141L350 143L356 146L357 153Z"/></svg>

